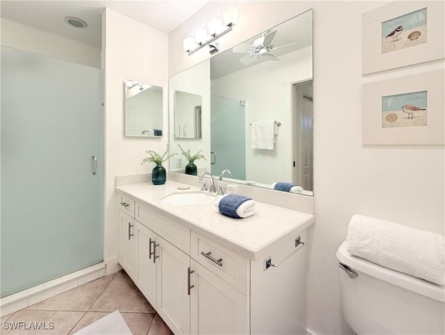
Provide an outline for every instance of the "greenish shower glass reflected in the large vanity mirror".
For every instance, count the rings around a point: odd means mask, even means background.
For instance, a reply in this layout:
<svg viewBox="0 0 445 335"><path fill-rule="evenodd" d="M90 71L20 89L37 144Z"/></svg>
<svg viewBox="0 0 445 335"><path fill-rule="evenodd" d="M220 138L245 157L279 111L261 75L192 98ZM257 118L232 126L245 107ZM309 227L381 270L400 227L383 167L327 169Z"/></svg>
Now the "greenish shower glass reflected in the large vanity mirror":
<svg viewBox="0 0 445 335"><path fill-rule="evenodd" d="M245 106L242 101L211 96L211 174L224 169L245 180Z"/></svg>

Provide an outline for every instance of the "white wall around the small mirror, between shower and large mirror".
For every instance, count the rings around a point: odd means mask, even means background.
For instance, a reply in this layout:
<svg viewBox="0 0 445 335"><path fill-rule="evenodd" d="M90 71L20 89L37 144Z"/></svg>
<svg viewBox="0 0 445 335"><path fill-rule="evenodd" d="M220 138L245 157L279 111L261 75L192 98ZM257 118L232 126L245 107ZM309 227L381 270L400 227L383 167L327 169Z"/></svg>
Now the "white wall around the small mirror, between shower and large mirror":
<svg viewBox="0 0 445 335"><path fill-rule="evenodd" d="M124 137L125 79L161 86L168 92L167 34L113 10L102 17L102 52L105 70L105 229L104 259L115 266L118 255L115 177L151 172L154 165L140 165L145 150L164 152L168 134L162 138ZM168 124L167 95L163 95L163 124ZM164 131L166 126L164 126ZM165 163L168 164L168 163ZM168 165L165 165L168 169Z"/></svg>

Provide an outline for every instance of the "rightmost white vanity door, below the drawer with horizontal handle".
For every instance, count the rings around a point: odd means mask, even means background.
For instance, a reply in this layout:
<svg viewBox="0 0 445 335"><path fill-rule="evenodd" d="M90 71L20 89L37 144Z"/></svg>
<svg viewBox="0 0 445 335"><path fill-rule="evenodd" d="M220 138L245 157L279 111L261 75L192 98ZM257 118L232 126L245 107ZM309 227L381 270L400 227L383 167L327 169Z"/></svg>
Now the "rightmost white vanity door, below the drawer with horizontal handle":
<svg viewBox="0 0 445 335"><path fill-rule="evenodd" d="M191 334L249 334L249 296L191 260Z"/></svg>

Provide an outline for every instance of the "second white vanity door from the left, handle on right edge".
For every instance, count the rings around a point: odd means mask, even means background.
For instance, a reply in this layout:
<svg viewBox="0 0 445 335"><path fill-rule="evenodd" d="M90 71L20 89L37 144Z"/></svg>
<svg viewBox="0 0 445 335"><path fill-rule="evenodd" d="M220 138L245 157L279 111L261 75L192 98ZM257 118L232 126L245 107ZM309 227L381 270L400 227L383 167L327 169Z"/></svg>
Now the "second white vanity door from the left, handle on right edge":
<svg viewBox="0 0 445 335"><path fill-rule="evenodd" d="M138 279L136 286L156 309L156 263L154 247L156 234L136 221L136 240L138 241Z"/></svg>

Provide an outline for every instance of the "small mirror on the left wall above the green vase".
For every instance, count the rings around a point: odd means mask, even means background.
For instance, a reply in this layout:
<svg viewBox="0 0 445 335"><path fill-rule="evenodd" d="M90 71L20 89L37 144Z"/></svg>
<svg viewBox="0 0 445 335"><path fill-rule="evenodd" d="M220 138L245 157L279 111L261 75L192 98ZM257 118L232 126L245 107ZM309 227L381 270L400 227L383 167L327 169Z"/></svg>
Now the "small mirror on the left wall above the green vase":
<svg viewBox="0 0 445 335"><path fill-rule="evenodd" d="M124 81L125 136L162 136L162 91L160 86Z"/></svg>

